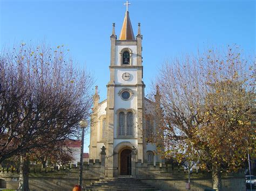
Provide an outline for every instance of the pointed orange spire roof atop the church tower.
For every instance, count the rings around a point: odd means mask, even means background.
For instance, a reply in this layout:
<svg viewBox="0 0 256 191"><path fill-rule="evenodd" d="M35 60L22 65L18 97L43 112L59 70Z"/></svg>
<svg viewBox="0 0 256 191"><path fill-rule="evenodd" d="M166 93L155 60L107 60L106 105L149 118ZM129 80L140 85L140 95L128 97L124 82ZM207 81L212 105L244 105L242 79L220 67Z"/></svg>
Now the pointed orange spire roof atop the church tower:
<svg viewBox="0 0 256 191"><path fill-rule="evenodd" d="M135 40L131 20L129 17L129 11L125 12L124 23L122 26L119 40Z"/></svg>

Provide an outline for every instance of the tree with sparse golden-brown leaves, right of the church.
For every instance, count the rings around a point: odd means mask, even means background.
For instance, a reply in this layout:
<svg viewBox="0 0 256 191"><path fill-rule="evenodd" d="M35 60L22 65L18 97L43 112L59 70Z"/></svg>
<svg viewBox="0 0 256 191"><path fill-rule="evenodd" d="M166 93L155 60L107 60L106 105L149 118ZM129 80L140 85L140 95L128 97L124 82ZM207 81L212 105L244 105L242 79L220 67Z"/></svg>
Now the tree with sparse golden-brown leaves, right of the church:
<svg viewBox="0 0 256 191"><path fill-rule="evenodd" d="M246 160L255 129L253 62L238 47L166 61L156 85L165 156L199 160L221 190L221 170L236 171ZM156 90L154 90L156 91ZM158 139L159 140L159 139Z"/></svg>

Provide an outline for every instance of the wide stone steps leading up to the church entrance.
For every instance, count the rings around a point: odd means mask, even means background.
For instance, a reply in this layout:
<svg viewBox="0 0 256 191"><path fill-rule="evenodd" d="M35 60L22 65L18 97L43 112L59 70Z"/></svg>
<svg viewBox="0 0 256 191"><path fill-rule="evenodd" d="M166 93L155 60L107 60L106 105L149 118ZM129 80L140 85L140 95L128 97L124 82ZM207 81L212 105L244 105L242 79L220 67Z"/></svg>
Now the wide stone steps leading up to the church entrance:
<svg viewBox="0 0 256 191"><path fill-rule="evenodd" d="M153 191L158 189L131 177L117 177L117 178L105 178L99 181L95 181L90 186L84 187L83 191L85 190L86 191L87 190L91 190L91 191L100 191L100 190Z"/></svg>

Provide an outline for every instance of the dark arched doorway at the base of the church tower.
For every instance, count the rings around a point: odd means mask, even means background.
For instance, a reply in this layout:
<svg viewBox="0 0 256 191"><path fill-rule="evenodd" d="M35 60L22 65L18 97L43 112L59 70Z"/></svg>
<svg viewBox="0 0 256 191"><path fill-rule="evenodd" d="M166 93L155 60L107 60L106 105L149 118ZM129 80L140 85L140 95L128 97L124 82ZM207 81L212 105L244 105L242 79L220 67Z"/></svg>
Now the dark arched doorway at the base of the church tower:
<svg viewBox="0 0 256 191"><path fill-rule="evenodd" d="M120 175L131 175L132 160L131 150L125 149L120 154Z"/></svg>

